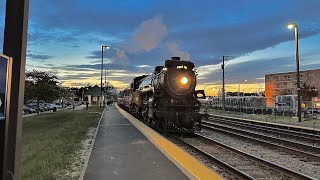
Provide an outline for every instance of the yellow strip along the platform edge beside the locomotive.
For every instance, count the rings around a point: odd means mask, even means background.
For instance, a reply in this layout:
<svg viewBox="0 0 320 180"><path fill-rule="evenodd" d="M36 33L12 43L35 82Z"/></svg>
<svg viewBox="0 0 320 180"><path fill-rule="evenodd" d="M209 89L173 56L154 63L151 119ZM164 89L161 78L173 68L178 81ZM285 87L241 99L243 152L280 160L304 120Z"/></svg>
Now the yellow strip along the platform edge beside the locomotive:
<svg viewBox="0 0 320 180"><path fill-rule="evenodd" d="M223 179L208 167L203 165L194 157L183 151L181 148L162 137L156 131L137 120L116 105L119 112L127 118L142 134L144 134L170 161L172 161L190 179Z"/></svg>

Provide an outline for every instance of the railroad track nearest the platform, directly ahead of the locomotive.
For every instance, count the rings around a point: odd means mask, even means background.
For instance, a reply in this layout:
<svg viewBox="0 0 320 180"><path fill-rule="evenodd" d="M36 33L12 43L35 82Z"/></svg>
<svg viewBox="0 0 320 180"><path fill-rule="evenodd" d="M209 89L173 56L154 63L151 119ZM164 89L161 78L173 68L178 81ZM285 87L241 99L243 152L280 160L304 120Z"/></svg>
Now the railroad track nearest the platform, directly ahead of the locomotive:
<svg viewBox="0 0 320 180"><path fill-rule="evenodd" d="M219 143L201 134L192 138L175 137L188 148L211 159L240 179L313 179L257 156Z"/></svg>

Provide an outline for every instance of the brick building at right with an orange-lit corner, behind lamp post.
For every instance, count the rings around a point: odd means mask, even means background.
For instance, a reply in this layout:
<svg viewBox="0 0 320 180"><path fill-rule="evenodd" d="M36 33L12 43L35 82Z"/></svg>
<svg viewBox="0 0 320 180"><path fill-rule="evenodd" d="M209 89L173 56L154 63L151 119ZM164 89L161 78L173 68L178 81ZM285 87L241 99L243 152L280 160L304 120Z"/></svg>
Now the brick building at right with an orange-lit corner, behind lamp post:
<svg viewBox="0 0 320 180"><path fill-rule="evenodd" d="M300 71L300 85L306 83L311 87L314 86L317 90L320 90L320 69ZM265 75L265 96L266 105L273 107L275 103L275 97L277 95L284 94L297 94L297 73L287 72L278 74L266 74ZM320 108L319 95L313 98L312 106L314 108ZM310 104L311 105L311 104Z"/></svg>

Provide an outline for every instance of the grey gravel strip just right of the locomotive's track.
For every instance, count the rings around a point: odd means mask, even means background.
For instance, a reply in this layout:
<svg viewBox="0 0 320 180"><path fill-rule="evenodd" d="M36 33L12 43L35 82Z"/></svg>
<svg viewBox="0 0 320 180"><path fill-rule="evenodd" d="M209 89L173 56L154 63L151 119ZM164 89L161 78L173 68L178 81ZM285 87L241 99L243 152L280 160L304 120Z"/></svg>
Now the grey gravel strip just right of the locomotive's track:
<svg viewBox="0 0 320 180"><path fill-rule="evenodd" d="M239 140L206 129L203 129L201 134L249 154L253 154L273 163L293 169L294 171L320 179L320 162L302 161L299 158L295 158L294 155L279 153L279 151L272 148L260 146L247 140Z"/></svg>

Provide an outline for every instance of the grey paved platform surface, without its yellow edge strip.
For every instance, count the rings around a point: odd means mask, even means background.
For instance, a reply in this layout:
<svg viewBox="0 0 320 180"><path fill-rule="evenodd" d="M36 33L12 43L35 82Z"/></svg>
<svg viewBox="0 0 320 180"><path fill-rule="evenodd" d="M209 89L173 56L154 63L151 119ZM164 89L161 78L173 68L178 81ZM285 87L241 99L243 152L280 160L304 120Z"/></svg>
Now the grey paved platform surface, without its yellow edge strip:
<svg viewBox="0 0 320 180"><path fill-rule="evenodd" d="M114 106L97 133L85 180L188 179Z"/></svg>

